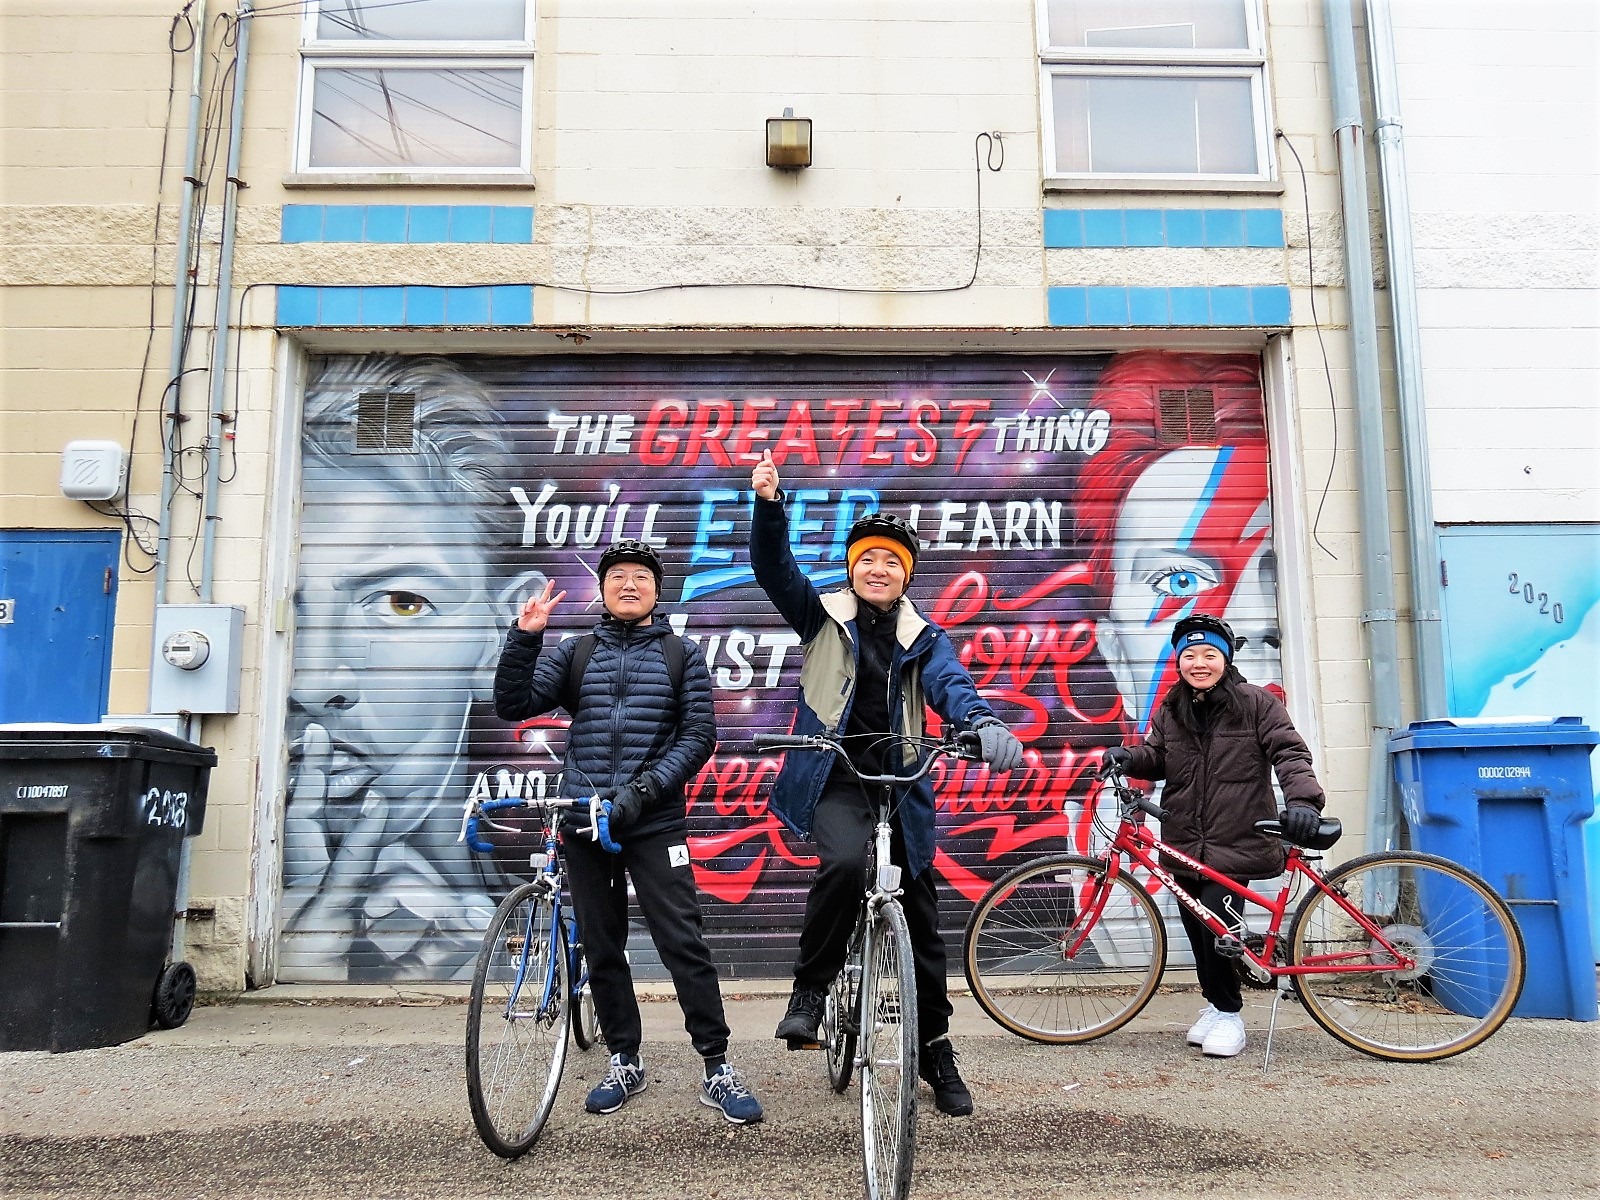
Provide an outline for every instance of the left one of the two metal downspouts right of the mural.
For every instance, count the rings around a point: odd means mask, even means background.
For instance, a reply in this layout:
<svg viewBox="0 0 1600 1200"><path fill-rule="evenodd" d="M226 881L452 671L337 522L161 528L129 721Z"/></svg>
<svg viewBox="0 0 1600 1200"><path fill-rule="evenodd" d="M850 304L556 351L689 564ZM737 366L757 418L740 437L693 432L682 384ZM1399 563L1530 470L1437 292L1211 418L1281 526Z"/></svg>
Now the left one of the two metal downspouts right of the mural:
<svg viewBox="0 0 1600 1200"><path fill-rule="evenodd" d="M1344 272L1350 302L1350 346L1355 379L1357 496L1362 515L1362 595L1366 611L1366 656L1371 670L1371 746L1366 779L1366 850L1398 842L1392 803L1389 736L1400 723L1398 640L1395 635L1394 563L1389 547L1389 474L1384 467L1382 389L1378 374L1378 312L1373 296L1371 222L1366 202L1366 146L1362 94L1355 74L1355 27L1349 0L1325 0L1328 69L1333 83L1334 142L1339 150L1339 197L1344 210Z"/></svg>

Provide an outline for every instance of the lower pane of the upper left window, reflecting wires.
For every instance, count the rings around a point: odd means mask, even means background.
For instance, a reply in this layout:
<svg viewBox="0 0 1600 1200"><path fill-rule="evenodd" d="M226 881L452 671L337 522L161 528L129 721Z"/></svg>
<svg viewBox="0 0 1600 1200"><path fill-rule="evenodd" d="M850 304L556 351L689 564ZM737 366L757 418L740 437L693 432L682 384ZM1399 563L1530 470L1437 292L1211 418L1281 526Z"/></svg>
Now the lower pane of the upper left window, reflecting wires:
<svg viewBox="0 0 1600 1200"><path fill-rule="evenodd" d="M318 67L310 166L520 166L522 70Z"/></svg>

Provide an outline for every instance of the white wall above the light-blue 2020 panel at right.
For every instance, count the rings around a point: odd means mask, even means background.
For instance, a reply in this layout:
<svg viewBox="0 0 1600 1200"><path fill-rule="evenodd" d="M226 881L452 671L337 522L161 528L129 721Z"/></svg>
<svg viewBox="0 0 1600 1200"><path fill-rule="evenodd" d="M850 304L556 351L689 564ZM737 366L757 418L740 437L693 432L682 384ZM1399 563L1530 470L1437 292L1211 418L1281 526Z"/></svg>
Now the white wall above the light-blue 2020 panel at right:
<svg viewBox="0 0 1600 1200"><path fill-rule="evenodd" d="M1398 0L1435 517L1600 518L1600 10Z"/></svg>

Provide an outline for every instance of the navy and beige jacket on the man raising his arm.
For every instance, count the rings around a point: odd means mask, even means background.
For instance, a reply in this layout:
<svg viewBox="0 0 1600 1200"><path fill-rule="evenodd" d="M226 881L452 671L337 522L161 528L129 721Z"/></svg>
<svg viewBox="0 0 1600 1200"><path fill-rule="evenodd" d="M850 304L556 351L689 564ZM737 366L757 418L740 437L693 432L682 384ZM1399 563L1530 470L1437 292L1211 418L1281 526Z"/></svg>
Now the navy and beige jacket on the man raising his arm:
<svg viewBox="0 0 1600 1200"><path fill-rule="evenodd" d="M850 589L822 595L805 578L789 549L789 517L781 501L757 498L750 515L750 566L755 581L789 627L800 635L800 702L795 733L843 731L854 699L861 646L856 606ZM899 603L894 650L890 659L890 733L922 738L925 707L957 728L971 728L994 717L962 666L949 635L917 611L909 597ZM915 749L904 747L904 763ZM827 750L789 750L768 800L779 821L800 837L811 835L811 816L827 784L834 755ZM904 790L899 826L906 840L906 864L912 875L933 866L933 787L926 779Z"/></svg>

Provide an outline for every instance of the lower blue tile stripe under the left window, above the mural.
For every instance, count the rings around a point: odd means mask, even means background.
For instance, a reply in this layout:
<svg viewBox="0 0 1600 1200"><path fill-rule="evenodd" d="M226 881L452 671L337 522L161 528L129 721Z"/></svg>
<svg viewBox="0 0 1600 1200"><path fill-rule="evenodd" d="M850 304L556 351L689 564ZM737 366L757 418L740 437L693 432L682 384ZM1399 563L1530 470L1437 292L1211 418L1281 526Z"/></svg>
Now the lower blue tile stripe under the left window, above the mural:
<svg viewBox="0 0 1600 1200"><path fill-rule="evenodd" d="M280 328L533 325L533 288L278 286Z"/></svg>

